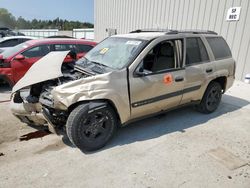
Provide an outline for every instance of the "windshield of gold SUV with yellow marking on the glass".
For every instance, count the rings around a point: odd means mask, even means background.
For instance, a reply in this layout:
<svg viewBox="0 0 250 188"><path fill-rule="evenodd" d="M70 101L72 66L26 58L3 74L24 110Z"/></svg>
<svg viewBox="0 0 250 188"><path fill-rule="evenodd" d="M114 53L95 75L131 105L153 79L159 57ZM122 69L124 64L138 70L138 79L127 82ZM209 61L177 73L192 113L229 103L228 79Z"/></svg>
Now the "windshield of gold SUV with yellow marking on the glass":
<svg viewBox="0 0 250 188"><path fill-rule="evenodd" d="M112 69L121 69L135 58L145 44L145 40L110 37L90 50L85 58Z"/></svg>

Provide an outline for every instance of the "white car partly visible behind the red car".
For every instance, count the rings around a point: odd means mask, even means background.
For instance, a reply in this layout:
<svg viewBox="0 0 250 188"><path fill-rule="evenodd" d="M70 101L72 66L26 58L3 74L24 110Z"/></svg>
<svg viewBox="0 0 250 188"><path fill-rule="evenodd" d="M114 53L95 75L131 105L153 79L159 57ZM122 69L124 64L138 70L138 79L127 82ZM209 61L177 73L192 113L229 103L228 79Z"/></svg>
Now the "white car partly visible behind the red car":
<svg viewBox="0 0 250 188"><path fill-rule="evenodd" d="M0 38L0 53L4 50L21 44L27 40L37 39L36 37L29 37L29 36L11 36L11 37L3 37Z"/></svg>

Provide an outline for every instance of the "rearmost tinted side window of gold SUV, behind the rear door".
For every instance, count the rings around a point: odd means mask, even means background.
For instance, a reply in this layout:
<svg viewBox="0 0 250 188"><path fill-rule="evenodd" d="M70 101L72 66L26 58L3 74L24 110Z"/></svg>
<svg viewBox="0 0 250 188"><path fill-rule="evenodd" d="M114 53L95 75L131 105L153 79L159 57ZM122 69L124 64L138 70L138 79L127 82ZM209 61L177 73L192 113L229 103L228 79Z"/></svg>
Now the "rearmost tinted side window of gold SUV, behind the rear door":
<svg viewBox="0 0 250 188"><path fill-rule="evenodd" d="M207 37L206 39L216 60L232 57L230 48L222 37Z"/></svg>

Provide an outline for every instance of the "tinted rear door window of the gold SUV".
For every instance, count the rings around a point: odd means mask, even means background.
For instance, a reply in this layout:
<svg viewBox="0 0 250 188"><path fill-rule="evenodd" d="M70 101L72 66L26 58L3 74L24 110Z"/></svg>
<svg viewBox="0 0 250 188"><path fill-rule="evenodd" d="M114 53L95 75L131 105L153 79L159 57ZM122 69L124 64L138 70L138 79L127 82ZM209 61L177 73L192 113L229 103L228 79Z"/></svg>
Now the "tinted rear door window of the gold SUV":
<svg viewBox="0 0 250 188"><path fill-rule="evenodd" d="M209 61L206 48L200 38L187 38L186 50L186 65Z"/></svg>

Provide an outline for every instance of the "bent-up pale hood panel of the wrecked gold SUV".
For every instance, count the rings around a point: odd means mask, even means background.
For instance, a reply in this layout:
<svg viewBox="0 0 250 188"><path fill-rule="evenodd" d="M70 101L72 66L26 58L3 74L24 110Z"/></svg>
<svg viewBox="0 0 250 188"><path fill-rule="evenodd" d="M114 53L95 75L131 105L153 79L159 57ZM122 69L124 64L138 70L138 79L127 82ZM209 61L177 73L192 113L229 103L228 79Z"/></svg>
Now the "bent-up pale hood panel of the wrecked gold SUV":
<svg viewBox="0 0 250 188"><path fill-rule="evenodd" d="M50 52L43 58L39 59L16 83L12 92L14 93L27 86L63 76L61 66L68 53L69 51Z"/></svg>

